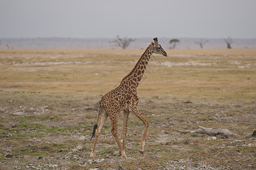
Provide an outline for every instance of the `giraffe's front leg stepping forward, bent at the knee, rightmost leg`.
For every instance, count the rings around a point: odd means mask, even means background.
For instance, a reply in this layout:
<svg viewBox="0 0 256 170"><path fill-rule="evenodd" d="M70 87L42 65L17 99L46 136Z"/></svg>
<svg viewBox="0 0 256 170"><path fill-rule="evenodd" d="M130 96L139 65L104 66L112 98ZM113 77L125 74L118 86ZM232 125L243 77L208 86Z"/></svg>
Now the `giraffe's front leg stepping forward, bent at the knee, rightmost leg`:
<svg viewBox="0 0 256 170"><path fill-rule="evenodd" d="M140 145L140 150L139 150L141 152L141 154L144 154L146 131L148 131L149 122L145 119L145 117L143 117L141 115L141 113L137 109L137 107L133 107L131 111L132 111L133 114L135 114L144 123L144 126L145 126L144 127L144 133L143 133L142 141L141 141L141 145Z"/></svg>

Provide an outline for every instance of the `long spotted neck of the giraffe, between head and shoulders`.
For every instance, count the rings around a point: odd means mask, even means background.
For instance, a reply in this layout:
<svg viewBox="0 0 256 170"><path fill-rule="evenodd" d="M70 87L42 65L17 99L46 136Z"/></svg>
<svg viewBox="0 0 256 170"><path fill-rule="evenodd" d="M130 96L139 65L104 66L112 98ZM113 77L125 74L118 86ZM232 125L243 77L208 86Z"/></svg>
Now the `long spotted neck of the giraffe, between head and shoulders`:
<svg viewBox="0 0 256 170"><path fill-rule="evenodd" d="M138 87L152 53L153 49L152 45L150 44L140 57L139 61L136 63L135 67L127 76L123 78L121 83L123 83L125 80L129 80L131 83L134 83L136 87Z"/></svg>

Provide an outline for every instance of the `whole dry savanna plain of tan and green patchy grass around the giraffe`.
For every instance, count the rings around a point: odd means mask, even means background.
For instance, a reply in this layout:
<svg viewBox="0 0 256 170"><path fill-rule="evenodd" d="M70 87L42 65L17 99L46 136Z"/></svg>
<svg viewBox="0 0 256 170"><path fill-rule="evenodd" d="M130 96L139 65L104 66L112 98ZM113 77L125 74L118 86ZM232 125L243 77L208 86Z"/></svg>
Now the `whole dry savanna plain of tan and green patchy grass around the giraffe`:
<svg viewBox="0 0 256 170"><path fill-rule="evenodd" d="M153 54L130 114L125 160L110 120L89 158L102 95L144 50L0 50L0 169L255 169L256 50ZM226 127L238 137L181 133ZM122 114L119 119L121 137Z"/></svg>

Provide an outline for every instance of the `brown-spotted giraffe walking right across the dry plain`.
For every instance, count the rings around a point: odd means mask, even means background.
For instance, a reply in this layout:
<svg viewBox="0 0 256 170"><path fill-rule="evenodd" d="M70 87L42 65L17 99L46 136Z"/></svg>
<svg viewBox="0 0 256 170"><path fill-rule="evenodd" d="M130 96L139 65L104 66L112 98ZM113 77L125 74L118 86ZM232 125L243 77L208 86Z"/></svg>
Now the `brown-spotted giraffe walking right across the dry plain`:
<svg viewBox="0 0 256 170"><path fill-rule="evenodd" d="M114 136L117 145L119 146L121 156L123 156L123 158L127 158L125 155L124 146L125 136L127 134L127 121L130 112L135 114L135 116L137 116L144 123L144 133L139 150L141 154L144 154L146 131L148 130L149 122L137 109L139 96L137 95L136 89L139 86L141 78L146 69L146 65L148 65L148 61L152 56L152 53L162 54L163 56L167 57L165 50L163 50L161 45L158 44L157 37L153 40L154 42L151 42L148 48L146 48L145 52L140 57L133 70L127 76L125 76L123 80L121 80L120 85L114 90L107 92L107 94L102 96L102 99L99 101L100 106L98 121L94 125L93 136L91 137L91 139L94 138L94 143L90 158L94 158L94 150L100 134L100 130L102 129L104 122L106 122L108 117L110 117L112 124L111 133ZM121 111L123 111L123 145L121 145L117 135L117 122Z"/></svg>

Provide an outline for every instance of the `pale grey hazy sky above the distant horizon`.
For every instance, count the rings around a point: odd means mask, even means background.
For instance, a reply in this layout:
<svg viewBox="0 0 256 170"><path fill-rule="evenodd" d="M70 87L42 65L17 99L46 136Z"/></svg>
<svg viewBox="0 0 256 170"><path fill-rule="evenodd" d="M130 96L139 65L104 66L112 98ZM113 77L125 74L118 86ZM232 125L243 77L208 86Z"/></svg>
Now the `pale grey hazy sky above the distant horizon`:
<svg viewBox="0 0 256 170"><path fill-rule="evenodd" d="M0 37L256 38L255 0L0 0Z"/></svg>

